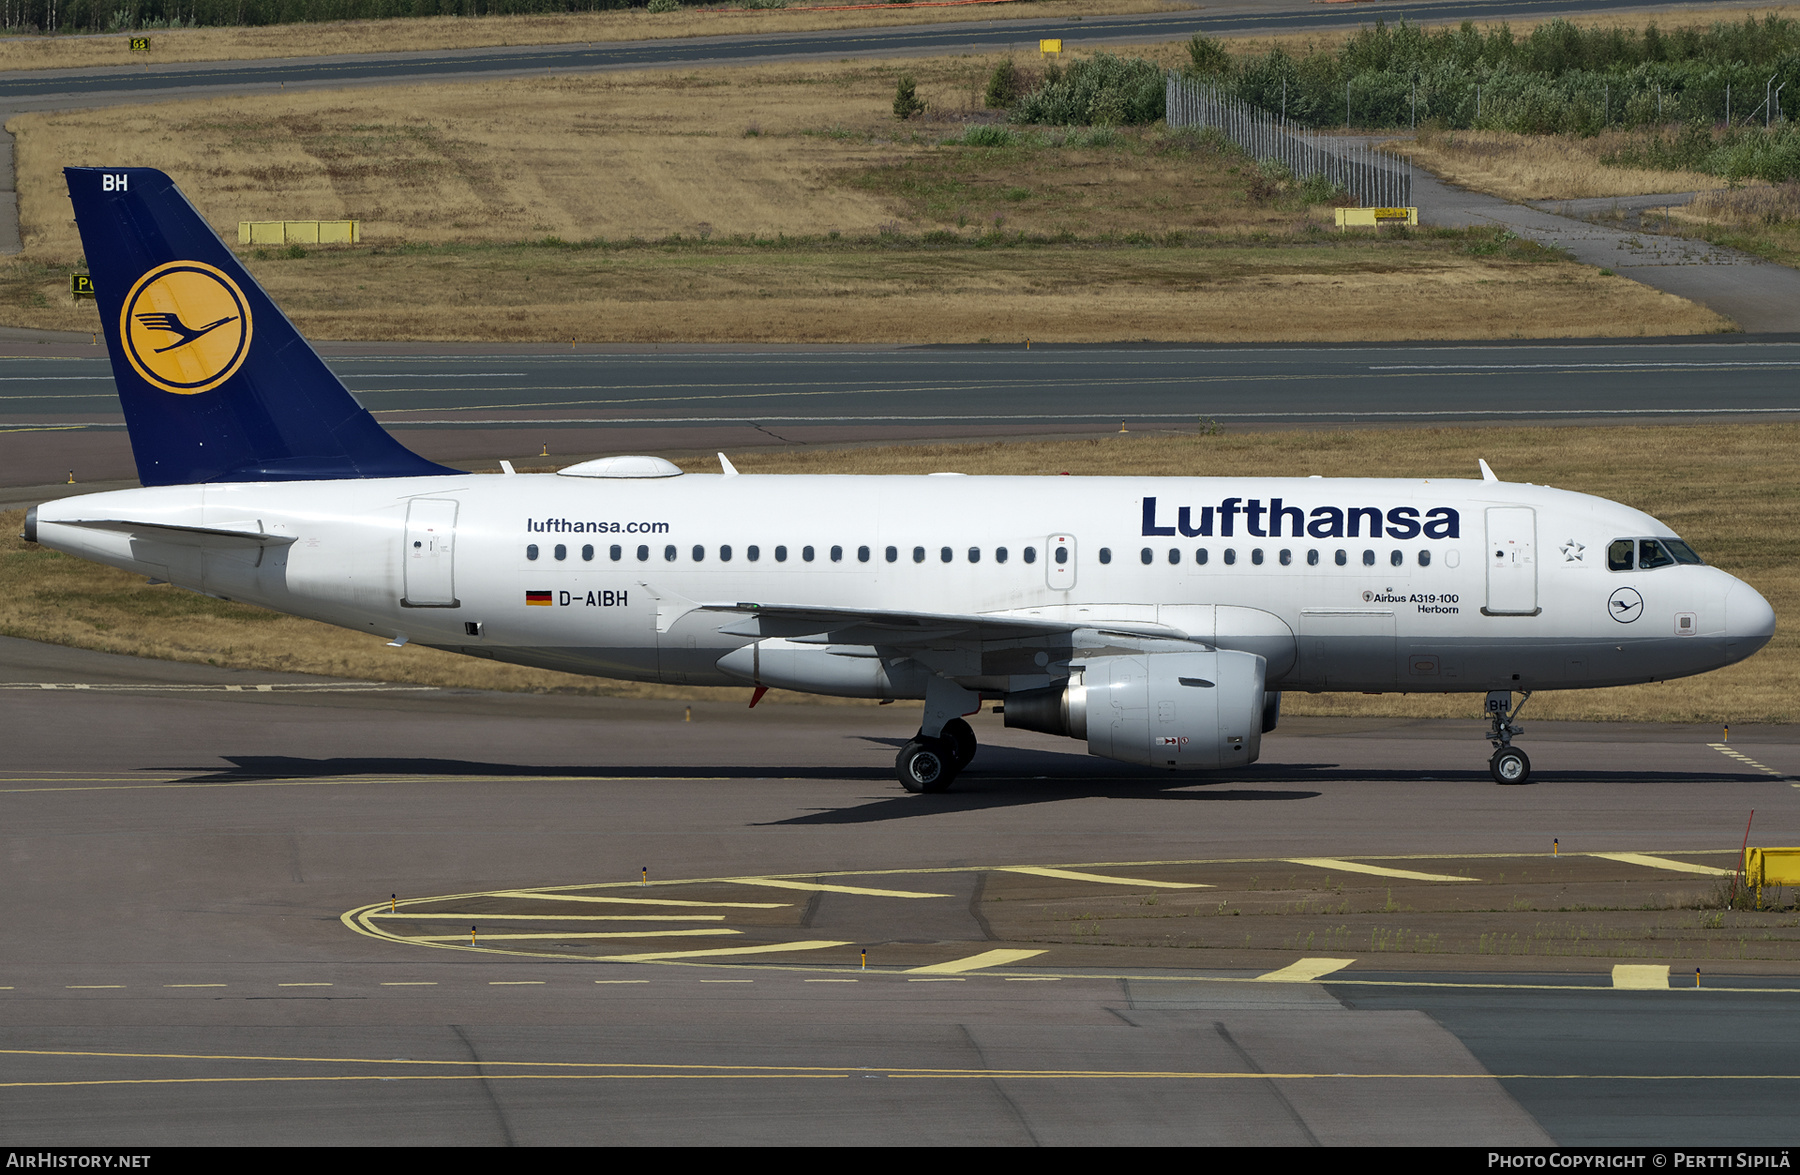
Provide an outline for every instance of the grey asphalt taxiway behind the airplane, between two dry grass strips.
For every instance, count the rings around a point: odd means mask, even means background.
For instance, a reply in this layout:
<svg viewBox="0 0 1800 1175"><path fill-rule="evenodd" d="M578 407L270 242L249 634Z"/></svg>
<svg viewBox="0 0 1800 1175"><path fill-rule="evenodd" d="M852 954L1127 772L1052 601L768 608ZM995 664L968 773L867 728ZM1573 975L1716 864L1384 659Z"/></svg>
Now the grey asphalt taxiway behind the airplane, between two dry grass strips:
<svg viewBox="0 0 1800 1175"><path fill-rule="evenodd" d="M20 333L23 335L23 333ZM97 347L7 342L0 491L36 500L135 471ZM1120 428L1795 419L1791 336L1372 345L445 347L329 344L382 425L436 461L578 461ZM549 464L549 462L542 462ZM977 473L979 470L965 470ZM67 486L68 477L76 486Z"/></svg>

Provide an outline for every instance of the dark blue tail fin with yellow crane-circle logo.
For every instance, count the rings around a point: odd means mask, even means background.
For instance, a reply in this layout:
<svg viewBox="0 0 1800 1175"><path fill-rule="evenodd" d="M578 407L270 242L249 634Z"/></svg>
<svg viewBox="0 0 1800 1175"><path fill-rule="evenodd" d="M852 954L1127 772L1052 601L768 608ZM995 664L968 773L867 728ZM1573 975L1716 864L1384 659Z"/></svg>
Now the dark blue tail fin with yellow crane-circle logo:
<svg viewBox="0 0 1800 1175"><path fill-rule="evenodd" d="M67 167L146 486L454 473L374 423L151 167Z"/></svg>

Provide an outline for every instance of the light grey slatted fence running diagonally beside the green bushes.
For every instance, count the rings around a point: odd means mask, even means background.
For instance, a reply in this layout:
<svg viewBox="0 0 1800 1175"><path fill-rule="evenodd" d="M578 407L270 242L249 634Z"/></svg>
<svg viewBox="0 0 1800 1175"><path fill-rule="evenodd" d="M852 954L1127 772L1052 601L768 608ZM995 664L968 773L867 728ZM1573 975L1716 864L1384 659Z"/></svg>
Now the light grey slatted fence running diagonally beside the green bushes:
<svg viewBox="0 0 1800 1175"><path fill-rule="evenodd" d="M1413 203L1411 162L1382 155L1366 142L1294 126L1192 77L1168 76L1163 117L1168 126L1217 128L1256 162L1273 160L1298 182L1325 176L1364 207L1400 209Z"/></svg>

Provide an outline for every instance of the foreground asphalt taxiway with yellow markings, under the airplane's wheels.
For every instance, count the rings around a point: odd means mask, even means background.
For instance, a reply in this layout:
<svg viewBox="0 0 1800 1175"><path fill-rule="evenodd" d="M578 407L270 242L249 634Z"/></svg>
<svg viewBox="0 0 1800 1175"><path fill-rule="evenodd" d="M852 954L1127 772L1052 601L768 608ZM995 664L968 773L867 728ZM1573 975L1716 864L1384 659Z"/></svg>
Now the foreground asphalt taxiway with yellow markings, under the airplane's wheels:
<svg viewBox="0 0 1800 1175"><path fill-rule="evenodd" d="M1021 867L1080 901L1226 858L1543 857L1552 837L1679 857L1733 849L1750 808L1795 844L1787 731L1733 731L1750 765L1710 729L1537 723L1541 783L1498 788L1474 723L1291 720L1251 768L1168 777L983 716L958 790L914 797L891 776L909 707L688 705L0 641L0 1135L1787 1141L1786 964L1645 991L1604 957L1447 972L1355 945L1280 982L1260 977L1305 952L1145 963L1078 934L995 941L981 916ZM549 957L499 937L522 891L720 930L607 921L655 959ZM493 937L346 918L391 894ZM761 950L716 954L743 945ZM1039 954L990 954L1017 950Z"/></svg>

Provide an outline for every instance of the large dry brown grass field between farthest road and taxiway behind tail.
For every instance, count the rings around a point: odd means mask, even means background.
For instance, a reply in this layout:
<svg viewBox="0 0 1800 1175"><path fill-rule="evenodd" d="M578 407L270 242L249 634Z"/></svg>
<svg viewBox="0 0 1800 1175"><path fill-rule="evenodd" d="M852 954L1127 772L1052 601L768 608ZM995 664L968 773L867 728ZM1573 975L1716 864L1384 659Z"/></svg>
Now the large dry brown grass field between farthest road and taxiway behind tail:
<svg viewBox="0 0 1800 1175"><path fill-rule="evenodd" d="M979 103L994 61L905 68L934 108L954 112ZM1111 148L934 146L961 122L896 124L898 70L610 74L23 115L11 126L25 254L0 266L0 311L20 326L97 327L92 304L67 297L79 239L59 169L106 162L169 171L227 234L239 220L362 220L365 247L304 259L265 250L250 261L302 329L328 338L1089 342L1730 329L1692 302L1580 266L1471 256L1463 238L1321 236L1327 212L1253 202L1238 157L1157 130L1123 133ZM923 232L947 236L925 243ZM994 247L995 232L1055 243ZM684 241L520 245L547 236ZM1372 304L1382 313L1366 313Z"/></svg>

